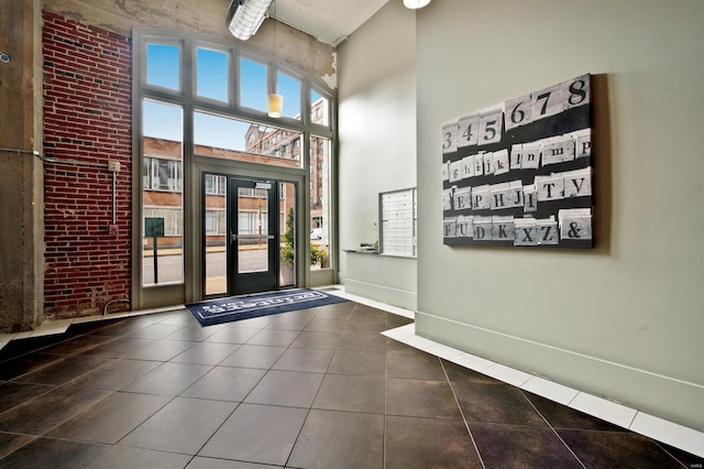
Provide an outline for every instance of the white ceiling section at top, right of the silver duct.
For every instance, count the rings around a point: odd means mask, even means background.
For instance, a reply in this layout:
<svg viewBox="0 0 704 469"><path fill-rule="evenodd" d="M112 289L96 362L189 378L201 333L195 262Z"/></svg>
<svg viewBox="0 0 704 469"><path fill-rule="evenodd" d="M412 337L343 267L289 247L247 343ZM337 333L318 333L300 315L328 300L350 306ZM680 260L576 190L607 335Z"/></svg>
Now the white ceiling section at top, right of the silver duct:
<svg viewBox="0 0 704 469"><path fill-rule="evenodd" d="M337 46L389 0L275 0L272 17ZM400 1L400 0L391 0Z"/></svg>

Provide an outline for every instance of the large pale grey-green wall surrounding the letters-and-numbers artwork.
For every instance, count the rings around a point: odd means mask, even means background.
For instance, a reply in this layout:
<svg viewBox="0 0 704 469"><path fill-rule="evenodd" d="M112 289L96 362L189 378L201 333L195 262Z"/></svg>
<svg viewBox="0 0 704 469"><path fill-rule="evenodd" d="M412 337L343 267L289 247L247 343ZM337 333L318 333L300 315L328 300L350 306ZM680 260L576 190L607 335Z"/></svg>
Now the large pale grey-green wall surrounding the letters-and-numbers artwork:
<svg viewBox="0 0 704 469"><path fill-rule="evenodd" d="M416 21L417 332L704 428L704 2L442 0ZM440 126L583 73L596 249L443 246Z"/></svg>

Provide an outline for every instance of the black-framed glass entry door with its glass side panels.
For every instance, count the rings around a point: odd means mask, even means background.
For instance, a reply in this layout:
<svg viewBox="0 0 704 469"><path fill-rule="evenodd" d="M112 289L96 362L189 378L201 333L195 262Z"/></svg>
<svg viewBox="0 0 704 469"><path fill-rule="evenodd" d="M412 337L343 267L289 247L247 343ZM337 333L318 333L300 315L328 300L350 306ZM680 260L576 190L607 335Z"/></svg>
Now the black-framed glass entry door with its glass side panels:
<svg viewBox="0 0 704 469"><path fill-rule="evenodd" d="M224 196L219 204L209 195L213 177ZM295 285L293 183L209 175L205 198L207 297Z"/></svg>

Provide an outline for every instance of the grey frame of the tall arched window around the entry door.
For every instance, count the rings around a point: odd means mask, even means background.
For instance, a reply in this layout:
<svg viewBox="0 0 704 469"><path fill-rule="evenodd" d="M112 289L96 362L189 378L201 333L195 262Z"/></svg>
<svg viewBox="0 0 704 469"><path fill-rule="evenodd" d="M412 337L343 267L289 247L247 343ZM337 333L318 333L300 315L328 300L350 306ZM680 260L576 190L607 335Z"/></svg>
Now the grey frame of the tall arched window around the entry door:
<svg viewBox="0 0 704 469"><path fill-rule="evenodd" d="M150 85L146 83L146 46L147 44L167 44L179 46L179 89L174 90L169 88L160 87L156 85ZM195 154L194 144L194 111L195 109L206 110L217 114L232 117L239 120L245 120L255 124L271 126L275 128L282 128L285 131L296 131L300 133L300 139L295 144L289 145L290 150L298 149L299 160L301 162L300 167L271 167L261 168L261 164L251 162L238 162L238 173L246 175L248 173L256 173L258 171L271 171L277 174L284 175L282 181L300 181L299 185L301 192L298 196L301 200L310 200L309 194L309 179L310 179L310 138L311 135L329 138L332 141L331 153L331 167L337 167L337 131L336 131L336 109L337 101L334 91L327 89L327 85L319 77L310 77L302 74L287 64L283 64L276 61L276 57L267 56L254 50L248 48L246 45L234 43L233 41L221 41L213 36L204 36L199 34L182 33L174 31L164 31L157 29L134 29L132 34L133 45L133 62L132 62L132 129L133 129L133 214L132 226L141 227L140 229L132 230L132 301L135 307L148 307L156 304L173 304L174 298L182 297L183 301L198 301L199 290L197 284L202 282L202 275L198 265L199 255L197 253L200 247L198 241L205 242L205 223L202 227L195 227L198 223L191 222L195 214L200 214L200 217L205 217L201 214L201 208L196 203L197 197L200 194L196 192L202 192L201 185L204 181L197 174L198 167L202 165L209 165L212 167L224 167L224 163L215 161L215 159L204 155ZM211 99L197 94L197 51L199 47L213 50L218 52L229 53L229 101L222 102L216 99ZM267 91L271 92L277 89L277 74L278 72L286 74L287 76L299 80L300 83L300 120L283 117L279 119L272 119L266 116L265 111L253 110L250 108L243 108L240 106L240 90L237 84L240 77L240 57L246 57L254 59L257 63L264 63L267 67ZM327 126L314 124L310 117L311 109L311 96L312 90L323 97L328 102L328 116L329 121ZM141 103L144 99L151 99L156 101L163 101L165 103L173 103L183 107L183 187L182 187L182 200L184 208L184 262L185 262L185 276L180 284L176 285L148 285L145 286L142 283L142 237L143 237L143 157L142 154L142 107ZM302 142L302 144L301 144ZM148 155L147 155L148 157ZM231 163L231 162L230 162ZM217 170L216 170L217 171ZM222 170L224 174L229 174L229 170ZM337 172L333 170L333 174ZM337 176L333 177L333 183L329 190L331 207L337 204L336 184ZM308 203L299 204L301 208L307 207ZM308 209L304 214L301 212L300 225L298 230L304 233L308 233L310 230L310 214ZM197 219L200 219L198 217ZM334 210L330 214L330 226L336 226L337 216ZM331 237L331 246L329 249L330 268L328 270L334 271L337 266L337 249L334 242L337 237ZM304 244L302 242L300 244ZM305 246L307 247L307 244ZM301 252L298 255L304 255L306 251L301 248ZM331 276L330 279L333 279ZM304 283L308 283L310 274L306 274L300 277ZM304 285L301 285L304 286ZM154 292L158 290L160 292ZM163 291L163 293L162 293ZM157 299L157 296L162 299ZM163 298L169 297L167 302ZM166 302L166 303L165 303Z"/></svg>

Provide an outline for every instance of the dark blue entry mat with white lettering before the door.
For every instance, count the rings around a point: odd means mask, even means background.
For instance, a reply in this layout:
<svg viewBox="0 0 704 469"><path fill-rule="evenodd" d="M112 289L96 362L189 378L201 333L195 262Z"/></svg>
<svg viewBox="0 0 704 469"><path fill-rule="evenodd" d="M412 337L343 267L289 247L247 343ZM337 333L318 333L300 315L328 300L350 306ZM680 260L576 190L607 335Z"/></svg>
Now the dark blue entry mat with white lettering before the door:
<svg viewBox="0 0 704 469"><path fill-rule="evenodd" d="M317 290L297 288L218 298L186 305L186 307L201 326L212 326L343 302L346 299Z"/></svg>

